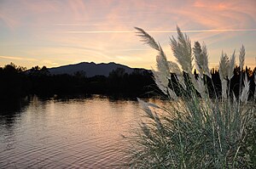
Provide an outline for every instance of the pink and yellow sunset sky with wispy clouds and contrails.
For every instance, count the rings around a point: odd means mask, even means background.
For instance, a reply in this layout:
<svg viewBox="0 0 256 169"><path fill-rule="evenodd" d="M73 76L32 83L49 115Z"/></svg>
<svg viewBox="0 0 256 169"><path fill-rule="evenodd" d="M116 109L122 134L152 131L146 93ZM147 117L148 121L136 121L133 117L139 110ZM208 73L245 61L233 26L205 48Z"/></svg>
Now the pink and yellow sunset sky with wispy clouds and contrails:
<svg viewBox="0 0 256 169"><path fill-rule="evenodd" d="M176 26L191 42L205 42L211 67L222 50L241 45L246 65L256 66L255 0L0 0L0 66L31 68L79 62L116 62L150 69L154 49L143 45L134 26L160 42L174 60L169 37Z"/></svg>

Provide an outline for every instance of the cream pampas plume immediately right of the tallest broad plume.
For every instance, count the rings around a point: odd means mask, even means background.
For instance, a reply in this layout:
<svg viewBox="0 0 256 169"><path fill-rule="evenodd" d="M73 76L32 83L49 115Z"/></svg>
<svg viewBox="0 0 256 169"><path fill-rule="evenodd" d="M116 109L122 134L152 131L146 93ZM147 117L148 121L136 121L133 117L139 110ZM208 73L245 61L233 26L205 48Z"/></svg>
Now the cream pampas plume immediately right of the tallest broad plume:
<svg viewBox="0 0 256 169"><path fill-rule="evenodd" d="M212 77L208 66L207 46L203 43L202 48L200 42L195 42L193 52L195 55L196 68L201 77L205 73L207 76Z"/></svg>

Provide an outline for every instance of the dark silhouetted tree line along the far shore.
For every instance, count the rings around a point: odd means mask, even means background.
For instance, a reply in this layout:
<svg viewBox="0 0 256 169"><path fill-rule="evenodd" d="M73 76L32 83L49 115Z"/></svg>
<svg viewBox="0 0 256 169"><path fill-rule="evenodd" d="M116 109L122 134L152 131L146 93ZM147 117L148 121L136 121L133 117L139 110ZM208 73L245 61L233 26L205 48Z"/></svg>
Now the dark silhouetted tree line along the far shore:
<svg viewBox="0 0 256 169"><path fill-rule="evenodd" d="M254 74L256 67L251 70L247 68L240 71L236 66L233 78L230 81L230 93L239 93L240 75L248 76L250 83L250 96L254 93ZM197 76L196 71L194 72ZM221 82L218 70L211 70L213 85L217 89L217 94L221 94ZM185 75L184 75L185 76ZM186 76L185 76L186 77ZM207 82L207 76L205 76ZM171 81L177 93L182 91L178 85L175 75L172 74ZM209 92L212 93L212 83L207 84ZM241 83L242 85L242 83ZM173 86L172 86L173 87ZM22 66L13 63L0 67L0 99L17 99L27 95L36 94L43 97L53 97L54 95L75 95L75 94L103 94L112 97L149 98L154 93L160 93L156 87L152 72L143 69L134 69L131 74L125 73L122 68L117 68L108 76L87 77L86 72L78 71L73 75L51 75L49 70L43 66L32 67L26 70Z"/></svg>

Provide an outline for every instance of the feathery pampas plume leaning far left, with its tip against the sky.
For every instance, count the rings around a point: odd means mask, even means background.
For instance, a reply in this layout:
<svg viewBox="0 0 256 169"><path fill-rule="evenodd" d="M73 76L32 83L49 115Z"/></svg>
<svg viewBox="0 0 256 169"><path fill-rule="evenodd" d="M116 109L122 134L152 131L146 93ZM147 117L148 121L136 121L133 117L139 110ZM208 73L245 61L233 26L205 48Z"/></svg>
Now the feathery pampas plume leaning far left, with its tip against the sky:
<svg viewBox="0 0 256 169"><path fill-rule="evenodd" d="M158 44L154 41L154 38L151 37L146 31L144 31L142 28L134 27L137 30L137 36L142 37L142 42L145 44L148 44L151 48L154 48L155 50L160 51L160 48Z"/></svg>

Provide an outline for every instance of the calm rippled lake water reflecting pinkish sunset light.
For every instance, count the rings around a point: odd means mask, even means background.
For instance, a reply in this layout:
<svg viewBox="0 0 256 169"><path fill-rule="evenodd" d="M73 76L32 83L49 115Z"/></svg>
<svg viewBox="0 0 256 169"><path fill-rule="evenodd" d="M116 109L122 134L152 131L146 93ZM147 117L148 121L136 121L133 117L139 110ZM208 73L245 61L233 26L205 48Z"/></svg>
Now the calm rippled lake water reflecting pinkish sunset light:
<svg viewBox="0 0 256 169"><path fill-rule="evenodd" d="M38 99L0 113L0 168L120 168L137 101Z"/></svg>

